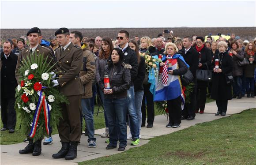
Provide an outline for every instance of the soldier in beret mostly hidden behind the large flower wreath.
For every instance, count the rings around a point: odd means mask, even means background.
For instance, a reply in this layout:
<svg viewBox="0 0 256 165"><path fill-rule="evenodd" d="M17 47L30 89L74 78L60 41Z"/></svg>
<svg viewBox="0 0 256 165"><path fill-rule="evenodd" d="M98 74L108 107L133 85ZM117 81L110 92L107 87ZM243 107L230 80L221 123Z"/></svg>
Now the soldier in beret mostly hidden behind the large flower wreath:
<svg viewBox="0 0 256 165"><path fill-rule="evenodd" d="M18 61L17 61L17 65L16 65L16 69L15 69L15 76L17 81L19 82L19 75L17 74L21 63L24 62L24 60L26 60L27 56L35 56L38 54L42 54L45 56L48 56L48 59L51 60L53 58L53 54L51 52L50 49L39 45L39 40L41 40L41 30L38 27L33 27L31 28L27 34L28 36L28 40L29 40L29 46L22 49L19 52L19 56L18 56ZM41 137L41 139L39 139L36 142L33 142L33 139L28 138L28 145L23 149L23 150L19 150L19 154L29 154L29 153L33 153L33 156L38 156L41 154L41 141L42 141L43 137Z"/></svg>

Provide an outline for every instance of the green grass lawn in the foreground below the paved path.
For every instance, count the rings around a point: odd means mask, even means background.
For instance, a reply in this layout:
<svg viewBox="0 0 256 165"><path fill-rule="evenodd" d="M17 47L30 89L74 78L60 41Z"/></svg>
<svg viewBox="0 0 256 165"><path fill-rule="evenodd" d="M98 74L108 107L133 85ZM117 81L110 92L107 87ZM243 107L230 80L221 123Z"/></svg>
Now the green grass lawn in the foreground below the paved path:
<svg viewBox="0 0 256 165"><path fill-rule="evenodd" d="M249 109L79 165L255 165L255 127L256 109Z"/></svg>

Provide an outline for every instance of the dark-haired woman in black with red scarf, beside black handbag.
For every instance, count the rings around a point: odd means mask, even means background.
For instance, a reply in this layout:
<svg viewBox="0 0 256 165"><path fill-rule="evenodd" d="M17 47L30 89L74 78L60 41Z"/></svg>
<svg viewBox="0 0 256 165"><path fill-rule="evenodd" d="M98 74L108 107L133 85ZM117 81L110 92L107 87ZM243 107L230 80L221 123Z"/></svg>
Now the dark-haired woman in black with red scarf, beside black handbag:
<svg viewBox="0 0 256 165"><path fill-rule="evenodd" d="M203 37L196 38L196 51L200 54L198 69L208 70L211 69L211 52L210 49L204 46ZM206 102L206 88L208 82L197 80L197 91L196 91L196 112L200 109L200 113L203 113L205 102Z"/></svg>

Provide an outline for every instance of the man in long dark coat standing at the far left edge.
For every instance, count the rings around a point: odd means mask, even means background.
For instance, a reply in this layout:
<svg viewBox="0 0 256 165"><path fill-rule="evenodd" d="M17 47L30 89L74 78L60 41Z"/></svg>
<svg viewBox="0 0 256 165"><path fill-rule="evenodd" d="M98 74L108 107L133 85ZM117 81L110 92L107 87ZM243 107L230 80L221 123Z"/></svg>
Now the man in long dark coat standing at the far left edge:
<svg viewBox="0 0 256 165"><path fill-rule="evenodd" d="M12 43L5 41L1 52L1 118L4 127L1 131L9 130L13 133L16 125L15 88L18 85L15 79L15 68L18 56L11 52Z"/></svg>

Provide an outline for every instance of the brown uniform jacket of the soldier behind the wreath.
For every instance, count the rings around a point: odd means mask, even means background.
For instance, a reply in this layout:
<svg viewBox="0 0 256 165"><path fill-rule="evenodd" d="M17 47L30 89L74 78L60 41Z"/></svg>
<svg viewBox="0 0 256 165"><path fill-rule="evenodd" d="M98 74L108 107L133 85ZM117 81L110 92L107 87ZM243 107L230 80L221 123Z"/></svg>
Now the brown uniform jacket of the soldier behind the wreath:
<svg viewBox="0 0 256 165"><path fill-rule="evenodd" d="M19 75L17 75L17 72L18 72L23 60L26 60L27 56L30 56L29 51L30 51L30 49L28 46L19 52L18 61L17 61L16 69L15 69L16 79L18 82L19 82ZM49 48L46 48L45 46L38 45L38 47L35 49L32 56L35 54L42 54L43 56L45 56L45 58L48 56L47 61L50 61L53 59L52 51ZM54 64L54 61L52 61L52 63Z"/></svg>

